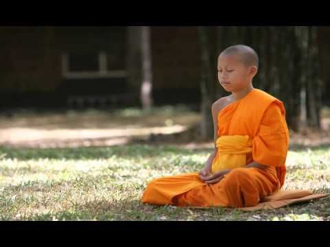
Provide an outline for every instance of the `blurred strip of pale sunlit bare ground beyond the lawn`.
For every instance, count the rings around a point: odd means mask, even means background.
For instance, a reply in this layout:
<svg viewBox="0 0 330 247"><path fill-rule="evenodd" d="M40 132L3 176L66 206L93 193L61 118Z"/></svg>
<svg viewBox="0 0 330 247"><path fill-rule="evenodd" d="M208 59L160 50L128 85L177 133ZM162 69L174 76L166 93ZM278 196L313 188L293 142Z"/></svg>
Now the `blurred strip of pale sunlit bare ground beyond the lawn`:
<svg viewBox="0 0 330 247"><path fill-rule="evenodd" d="M17 113L0 116L0 145L64 148L120 145L150 134L183 132L198 124L200 115L179 106L160 107L151 113L130 108L112 113L87 110L63 114Z"/></svg>

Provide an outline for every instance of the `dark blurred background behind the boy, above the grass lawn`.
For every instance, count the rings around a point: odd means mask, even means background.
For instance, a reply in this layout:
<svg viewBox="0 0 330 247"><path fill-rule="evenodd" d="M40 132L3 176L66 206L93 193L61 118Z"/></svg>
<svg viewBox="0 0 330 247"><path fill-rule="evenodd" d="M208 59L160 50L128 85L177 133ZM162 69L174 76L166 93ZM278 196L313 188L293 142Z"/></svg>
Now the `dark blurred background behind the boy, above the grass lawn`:
<svg viewBox="0 0 330 247"><path fill-rule="evenodd" d="M259 54L290 145L330 145L330 27L0 27L0 145L207 143L217 56Z"/></svg>

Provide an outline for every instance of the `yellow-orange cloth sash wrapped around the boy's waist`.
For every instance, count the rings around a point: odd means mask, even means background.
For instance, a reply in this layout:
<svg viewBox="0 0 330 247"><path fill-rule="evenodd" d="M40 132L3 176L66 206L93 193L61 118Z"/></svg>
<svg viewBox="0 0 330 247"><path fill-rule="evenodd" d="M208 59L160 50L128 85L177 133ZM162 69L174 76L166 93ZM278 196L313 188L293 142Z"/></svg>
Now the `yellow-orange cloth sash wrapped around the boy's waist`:
<svg viewBox="0 0 330 247"><path fill-rule="evenodd" d="M212 173L246 165L246 154L252 152L248 135L225 135L217 139L217 154L212 161Z"/></svg>

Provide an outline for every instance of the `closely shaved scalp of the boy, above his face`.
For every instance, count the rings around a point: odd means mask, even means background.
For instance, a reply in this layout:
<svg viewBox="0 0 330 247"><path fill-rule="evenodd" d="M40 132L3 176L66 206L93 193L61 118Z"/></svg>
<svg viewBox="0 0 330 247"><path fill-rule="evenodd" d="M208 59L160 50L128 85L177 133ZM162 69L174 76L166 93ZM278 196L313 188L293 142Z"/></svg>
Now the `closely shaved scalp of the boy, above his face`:
<svg viewBox="0 0 330 247"><path fill-rule="evenodd" d="M221 52L219 56L236 55L241 58L245 66L259 67L259 58L256 51L247 45L232 45Z"/></svg>

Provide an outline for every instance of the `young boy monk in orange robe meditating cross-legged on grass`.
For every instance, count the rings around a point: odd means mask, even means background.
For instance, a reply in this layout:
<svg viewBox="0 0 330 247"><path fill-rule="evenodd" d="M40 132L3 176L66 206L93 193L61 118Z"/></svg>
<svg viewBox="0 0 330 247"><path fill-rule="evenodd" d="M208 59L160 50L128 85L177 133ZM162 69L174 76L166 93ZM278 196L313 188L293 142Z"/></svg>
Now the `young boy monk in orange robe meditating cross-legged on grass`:
<svg viewBox="0 0 330 247"><path fill-rule="evenodd" d="M177 206L251 207L281 189L289 143L283 102L252 79L254 49L234 45L218 58L218 79L231 93L212 104L214 152L199 173L152 180L142 202Z"/></svg>

